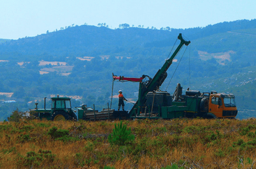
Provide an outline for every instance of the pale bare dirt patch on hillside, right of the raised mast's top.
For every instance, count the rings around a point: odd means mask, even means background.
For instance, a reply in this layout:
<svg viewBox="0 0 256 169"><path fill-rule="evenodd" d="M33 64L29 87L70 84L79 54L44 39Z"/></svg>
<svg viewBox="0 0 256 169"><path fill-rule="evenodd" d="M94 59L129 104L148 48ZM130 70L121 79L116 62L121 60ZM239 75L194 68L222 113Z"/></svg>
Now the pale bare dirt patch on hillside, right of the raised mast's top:
<svg viewBox="0 0 256 169"><path fill-rule="evenodd" d="M229 51L209 54L208 52L198 51L198 54L201 60L209 60L215 58L220 65L225 65L226 62L231 61L230 54L235 54L235 52Z"/></svg>

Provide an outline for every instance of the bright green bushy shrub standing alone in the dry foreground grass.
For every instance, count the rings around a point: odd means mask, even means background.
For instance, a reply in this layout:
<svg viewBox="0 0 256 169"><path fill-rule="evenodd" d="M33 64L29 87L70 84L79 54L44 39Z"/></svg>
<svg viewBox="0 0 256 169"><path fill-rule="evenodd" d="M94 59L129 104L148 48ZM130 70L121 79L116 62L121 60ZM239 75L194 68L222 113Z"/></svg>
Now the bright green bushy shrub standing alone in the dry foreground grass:
<svg viewBox="0 0 256 169"><path fill-rule="evenodd" d="M122 125L122 121L117 125L115 123L115 128L108 137L111 145L126 145L135 139L134 135L131 134L130 128L127 130L126 127L127 125Z"/></svg>

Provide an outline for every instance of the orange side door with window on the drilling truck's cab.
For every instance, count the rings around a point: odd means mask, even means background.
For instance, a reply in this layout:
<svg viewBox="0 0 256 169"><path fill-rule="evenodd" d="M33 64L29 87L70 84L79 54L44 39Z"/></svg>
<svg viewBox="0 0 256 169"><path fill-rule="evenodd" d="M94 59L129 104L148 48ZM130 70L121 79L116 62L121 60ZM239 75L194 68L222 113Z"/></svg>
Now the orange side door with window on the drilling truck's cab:
<svg viewBox="0 0 256 169"><path fill-rule="evenodd" d="M216 115L216 117L222 117L223 104L222 98L219 96L210 97L209 112Z"/></svg>

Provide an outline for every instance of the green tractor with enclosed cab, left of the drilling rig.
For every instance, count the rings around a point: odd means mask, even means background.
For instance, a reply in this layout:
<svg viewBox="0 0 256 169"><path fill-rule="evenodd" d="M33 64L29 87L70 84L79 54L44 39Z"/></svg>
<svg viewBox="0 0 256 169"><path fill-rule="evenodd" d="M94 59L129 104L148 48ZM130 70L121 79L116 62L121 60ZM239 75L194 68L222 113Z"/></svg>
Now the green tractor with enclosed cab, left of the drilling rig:
<svg viewBox="0 0 256 169"><path fill-rule="evenodd" d="M59 120L77 120L76 110L71 109L71 98L69 97L52 97L51 109L46 109L46 97L44 98L44 109L36 109L29 111L31 116L40 119L47 119L52 121Z"/></svg>

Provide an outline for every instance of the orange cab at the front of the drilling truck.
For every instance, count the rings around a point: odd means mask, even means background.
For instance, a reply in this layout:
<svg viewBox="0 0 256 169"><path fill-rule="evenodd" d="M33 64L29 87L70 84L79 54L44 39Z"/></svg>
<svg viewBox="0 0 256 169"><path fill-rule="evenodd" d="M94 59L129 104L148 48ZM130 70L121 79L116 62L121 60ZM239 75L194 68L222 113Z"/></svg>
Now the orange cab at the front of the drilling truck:
<svg viewBox="0 0 256 169"><path fill-rule="evenodd" d="M235 96L233 94L210 94L209 113L218 118L235 118L237 107L235 105Z"/></svg>

